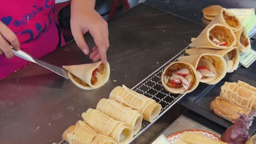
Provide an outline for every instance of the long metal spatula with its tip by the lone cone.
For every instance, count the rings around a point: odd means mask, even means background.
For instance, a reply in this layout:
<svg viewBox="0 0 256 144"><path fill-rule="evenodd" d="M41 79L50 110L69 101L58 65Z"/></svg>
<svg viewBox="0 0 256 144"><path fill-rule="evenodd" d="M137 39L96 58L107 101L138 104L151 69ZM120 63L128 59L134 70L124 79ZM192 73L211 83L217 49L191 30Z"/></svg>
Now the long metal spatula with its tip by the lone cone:
<svg viewBox="0 0 256 144"><path fill-rule="evenodd" d="M13 48L13 47L11 46L11 48ZM11 50L13 50L13 49L11 49ZM41 65L42 67L49 69L49 70L53 71L54 73L65 77L66 79L69 79L67 70L65 70L63 68L60 68L55 65L45 63L36 58L33 58L32 56L28 55L26 52L24 52L22 50L19 50L19 51L13 50L13 52L14 52L14 55L17 57L20 57L22 59L25 59L25 60L33 62L33 63L37 63L37 64Z"/></svg>

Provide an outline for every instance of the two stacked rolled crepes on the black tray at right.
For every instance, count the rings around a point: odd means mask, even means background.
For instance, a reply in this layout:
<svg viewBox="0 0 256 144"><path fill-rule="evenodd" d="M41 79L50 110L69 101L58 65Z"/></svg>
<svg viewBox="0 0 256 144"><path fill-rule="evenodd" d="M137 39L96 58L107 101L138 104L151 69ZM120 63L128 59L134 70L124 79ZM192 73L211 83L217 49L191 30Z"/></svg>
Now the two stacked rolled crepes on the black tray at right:
<svg viewBox="0 0 256 144"><path fill-rule="evenodd" d="M240 117L238 113L250 115L255 112L256 88L242 81L225 82L210 108L216 115L234 123Z"/></svg>

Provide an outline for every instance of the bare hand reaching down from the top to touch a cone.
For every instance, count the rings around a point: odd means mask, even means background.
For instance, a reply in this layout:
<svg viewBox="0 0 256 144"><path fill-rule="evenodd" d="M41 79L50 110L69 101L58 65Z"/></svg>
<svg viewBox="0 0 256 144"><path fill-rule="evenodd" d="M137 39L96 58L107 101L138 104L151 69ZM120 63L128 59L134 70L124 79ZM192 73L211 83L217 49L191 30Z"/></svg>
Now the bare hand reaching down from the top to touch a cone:
<svg viewBox="0 0 256 144"><path fill-rule="evenodd" d="M90 58L106 64L106 51L109 47L108 25L100 14L94 10L92 0L72 0L71 3L71 31L78 47L85 55L89 54L89 47L85 42L84 34L89 32L94 38L95 46L92 48Z"/></svg>

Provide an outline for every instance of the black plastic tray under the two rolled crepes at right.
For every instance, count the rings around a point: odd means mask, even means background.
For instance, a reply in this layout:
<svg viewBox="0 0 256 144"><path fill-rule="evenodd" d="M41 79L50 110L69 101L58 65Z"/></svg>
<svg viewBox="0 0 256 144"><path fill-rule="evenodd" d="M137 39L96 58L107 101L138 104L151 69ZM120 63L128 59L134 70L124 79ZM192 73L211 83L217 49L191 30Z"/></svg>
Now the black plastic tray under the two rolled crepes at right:
<svg viewBox="0 0 256 144"><path fill-rule="evenodd" d="M234 73L227 73L224 79L217 83L216 85L206 85L205 83L200 83L194 92L191 92L179 101L180 104L187 107L189 110L202 115L222 125L225 128L229 128L232 124L228 120L217 116L214 112L210 110L210 103L213 101L220 93L220 87L225 81L237 82L238 80L248 83L249 85L256 86L256 63L253 63L249 69L240 67ZM253 135L256 131L256 118L249 128L249 135Z"/></svg>

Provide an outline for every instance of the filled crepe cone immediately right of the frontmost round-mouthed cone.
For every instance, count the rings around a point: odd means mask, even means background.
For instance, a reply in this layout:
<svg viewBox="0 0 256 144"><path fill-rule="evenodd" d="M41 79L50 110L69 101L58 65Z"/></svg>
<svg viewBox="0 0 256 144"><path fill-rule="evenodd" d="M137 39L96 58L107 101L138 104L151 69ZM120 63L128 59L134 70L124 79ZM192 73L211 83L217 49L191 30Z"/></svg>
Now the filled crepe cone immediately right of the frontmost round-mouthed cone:
<svg viewBox="0 0 256 144"><path fill-rule="evenodd" d="M196 68L199 81L208 85L215 85L226 75L225 59L216 54L204 53L201 55L179 57L179 61L188 62Z"/></svg>

